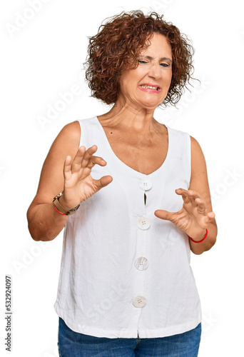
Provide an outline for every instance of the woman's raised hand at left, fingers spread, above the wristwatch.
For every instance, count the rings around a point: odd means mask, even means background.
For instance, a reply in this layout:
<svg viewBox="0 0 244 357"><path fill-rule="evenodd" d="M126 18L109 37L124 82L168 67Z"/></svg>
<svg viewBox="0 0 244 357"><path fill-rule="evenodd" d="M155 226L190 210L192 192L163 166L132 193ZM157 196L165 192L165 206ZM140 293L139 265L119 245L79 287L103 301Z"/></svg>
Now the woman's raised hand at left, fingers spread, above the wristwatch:
<svg viewBox="0 0 244 357"><path fill-rule="evenodd" d="M59 202L67 210L78 206L79 203L86 201L94 193L113 181L111 176L103 176L95 180L91 176L91 170L96 164L106 166L106 161L101 157L93 156L97 151L97 146L93 145L86 150L81 146L76 156L71 160L71 156L66 156L63 165L63 195Z"/></svg>

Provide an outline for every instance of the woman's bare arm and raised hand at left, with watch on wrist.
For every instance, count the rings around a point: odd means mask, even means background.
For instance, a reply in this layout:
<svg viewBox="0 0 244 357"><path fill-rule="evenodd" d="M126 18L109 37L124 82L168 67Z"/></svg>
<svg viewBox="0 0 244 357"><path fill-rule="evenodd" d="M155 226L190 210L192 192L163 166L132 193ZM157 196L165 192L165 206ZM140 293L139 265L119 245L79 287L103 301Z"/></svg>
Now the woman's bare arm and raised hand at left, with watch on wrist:
<svg viewBox="0 0 244 357"><path fill-rule="evenodd" d="M57 213L52 203L57 193L63 191L59 201L68 210L112 181L111 176L93 180L93 166L105 166L106 161L93 156L96 146L79 148L80 137L78 121L64 126L44 161L36 196L27 211L29 231L35 241L53 240L68 221L68 216Z"/></svg>

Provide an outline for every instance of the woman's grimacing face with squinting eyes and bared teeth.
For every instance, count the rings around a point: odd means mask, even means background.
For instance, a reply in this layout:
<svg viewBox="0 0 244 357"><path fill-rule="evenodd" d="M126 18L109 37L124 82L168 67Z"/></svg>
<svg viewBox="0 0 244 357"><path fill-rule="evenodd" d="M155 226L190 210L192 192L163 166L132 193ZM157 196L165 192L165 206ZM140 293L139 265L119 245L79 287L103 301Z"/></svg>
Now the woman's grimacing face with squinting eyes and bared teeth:
<svg viewBox="0 0 244 357"><path fill-rule="evenodd" d="M153 34L150 42L138 57L136 69L129 69L121 76L118 99L136 109L156 109L171 85L171 45L161 34Z"/></svg>

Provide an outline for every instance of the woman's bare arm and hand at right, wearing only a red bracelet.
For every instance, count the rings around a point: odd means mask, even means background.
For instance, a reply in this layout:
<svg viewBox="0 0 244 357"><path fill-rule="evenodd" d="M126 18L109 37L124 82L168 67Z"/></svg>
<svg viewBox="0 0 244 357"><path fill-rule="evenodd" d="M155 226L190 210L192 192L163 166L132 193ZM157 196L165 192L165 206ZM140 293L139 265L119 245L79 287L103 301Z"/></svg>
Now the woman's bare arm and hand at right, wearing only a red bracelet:
<svg viewBox="0 0 244 357"><path fill-rule="evenodd" d="M188 234L193 240L200 241L208 229L208 236L201 243L190 241L190 249L195 254L208 251L216 241L217 225L215 213L212 212L208 175L203 151L198 142L191 140L191 178L189 190L176 189L183 198L183 208L178 212L157 210L156 216L173 222Z"/></svg>

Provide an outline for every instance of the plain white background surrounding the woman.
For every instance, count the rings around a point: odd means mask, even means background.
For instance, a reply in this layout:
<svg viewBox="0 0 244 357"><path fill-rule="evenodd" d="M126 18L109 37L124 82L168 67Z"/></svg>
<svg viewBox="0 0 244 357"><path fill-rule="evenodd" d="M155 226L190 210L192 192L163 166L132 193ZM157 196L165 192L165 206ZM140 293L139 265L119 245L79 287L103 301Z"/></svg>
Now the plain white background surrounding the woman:
<svg viewBox="0 0 244 357"><path fill-rule="evenodd" d="M35 10L30 10L35 2ZM54 311L62 233L35 242L26 211L41 166L61 128L108 107L89 97L83 81L88 36L123 10L155 10L188 34L195 47L195 76L176 109L156 118L198 140L208 165L218 241L191 266L203 309L200 357L243 352L243 49L242 1L225 0L12 0L1 3L1 315L0 353L6 353L5 274L12 276L11 356L54 357ZM39 3L39 6L38 6ZM123 4L123 6L121 5ZM34 7L34 5L32 6ZM28 18L27 20L24 17ZM19 27L18 27L18 26ZM61 95L79 94L41 126ZM61 104L60 104L61 105Z"/></svg>

